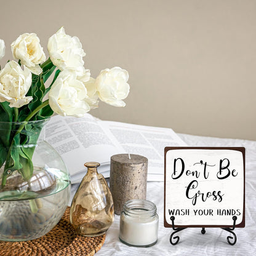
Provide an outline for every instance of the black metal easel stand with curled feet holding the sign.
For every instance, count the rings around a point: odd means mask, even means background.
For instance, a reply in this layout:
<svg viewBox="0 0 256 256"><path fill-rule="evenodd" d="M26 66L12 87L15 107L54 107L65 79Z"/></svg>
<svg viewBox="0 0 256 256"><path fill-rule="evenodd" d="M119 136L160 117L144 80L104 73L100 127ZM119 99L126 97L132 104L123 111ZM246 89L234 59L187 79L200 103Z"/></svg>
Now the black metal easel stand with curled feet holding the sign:
<svg viewBox="0 0 256 256"><path fill-rule="evenodd" d="M228 236L226 238L226 241L228 241L228 244L230 244L231 246L233 246L234 244L236 244L236 234L233 232L235 226L236 226L236 220L238 219L236 216L233 216L232 217L233 219L233 227L232 228L222 228L222 230L225 230L225 231L228 231L230 232L231 234L233 234L233 237L232 236ZM178 241L180 241L180 237L179 236L174 236L174 234L182 231L182 230L185 230L186 228L175 228L174 226L174 220L175 220L175 217L172 216L170 217L170 220L172 221L172 229L174 230L174 232L172 232L172 234L170 234L170 243L175 246L176 244L178 244ZM201 233L202 234L205 234L206 233L206 228L202 228L201 230ZM234 239L234 241L232 241L231 239Z"/></svg>

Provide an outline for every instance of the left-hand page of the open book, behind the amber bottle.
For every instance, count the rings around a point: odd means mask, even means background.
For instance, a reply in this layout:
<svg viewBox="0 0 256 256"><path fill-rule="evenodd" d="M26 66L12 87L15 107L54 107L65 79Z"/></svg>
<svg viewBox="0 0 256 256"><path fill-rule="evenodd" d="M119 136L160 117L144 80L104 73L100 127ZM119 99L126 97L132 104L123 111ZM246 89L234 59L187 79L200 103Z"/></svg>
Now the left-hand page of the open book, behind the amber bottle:
<svg viewBox="0 0 256 256"><path fill-rule="evenodd" d="M46 126L46 141L62 156L71 176L85 170L85 162L109 165L113 154L124 153L116 138L90 114L83 118L53 116Z"/></svg>

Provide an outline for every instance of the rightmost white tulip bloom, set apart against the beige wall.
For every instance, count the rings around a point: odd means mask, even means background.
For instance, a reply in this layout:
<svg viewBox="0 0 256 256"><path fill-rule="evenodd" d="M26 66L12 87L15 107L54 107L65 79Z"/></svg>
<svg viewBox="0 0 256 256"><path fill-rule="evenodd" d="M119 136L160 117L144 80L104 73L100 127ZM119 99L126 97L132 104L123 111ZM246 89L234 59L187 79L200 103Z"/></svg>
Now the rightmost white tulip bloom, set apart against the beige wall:
<svg viewBox="0 0 256 256"><path fill-rule="evenodd" d="M118 66L100 71L95 81L100 100L112 106L125 106L122 100L129 94L128 79L128 72Z"/></svg>

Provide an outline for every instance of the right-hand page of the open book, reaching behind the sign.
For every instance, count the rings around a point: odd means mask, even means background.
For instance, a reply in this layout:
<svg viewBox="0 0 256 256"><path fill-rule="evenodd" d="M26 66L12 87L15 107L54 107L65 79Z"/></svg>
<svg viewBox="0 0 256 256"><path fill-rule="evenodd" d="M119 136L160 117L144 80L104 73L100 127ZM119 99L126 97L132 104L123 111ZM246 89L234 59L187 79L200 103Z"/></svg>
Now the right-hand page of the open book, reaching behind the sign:
<svg viewBox="0 0 256 256"><path fill-rule="evenodd" d="M99 121L103 129L109 129L126 153L140 154L148 158L148 177L164 180L164 148L186 146L186 143L169 128L140 126L122 122ZM160 175L159 178L157 175Z"/></svg>

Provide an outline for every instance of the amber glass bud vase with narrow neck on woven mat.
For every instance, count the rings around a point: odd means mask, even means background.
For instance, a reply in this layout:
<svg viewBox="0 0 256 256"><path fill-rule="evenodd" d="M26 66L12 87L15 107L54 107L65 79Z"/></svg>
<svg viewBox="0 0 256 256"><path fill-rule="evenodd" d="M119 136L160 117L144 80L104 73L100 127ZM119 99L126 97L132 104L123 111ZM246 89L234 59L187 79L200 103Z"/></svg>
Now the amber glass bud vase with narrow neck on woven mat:
<svg viewBox="0 0 256 256"><path fill-rule="evenodd" d="M71 204L70 223L76 233L100 236L114 221L113 198L98 162L86 162L87 174L82 179Z"/></svg>

